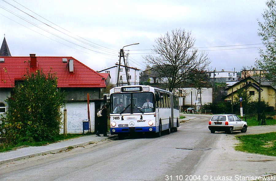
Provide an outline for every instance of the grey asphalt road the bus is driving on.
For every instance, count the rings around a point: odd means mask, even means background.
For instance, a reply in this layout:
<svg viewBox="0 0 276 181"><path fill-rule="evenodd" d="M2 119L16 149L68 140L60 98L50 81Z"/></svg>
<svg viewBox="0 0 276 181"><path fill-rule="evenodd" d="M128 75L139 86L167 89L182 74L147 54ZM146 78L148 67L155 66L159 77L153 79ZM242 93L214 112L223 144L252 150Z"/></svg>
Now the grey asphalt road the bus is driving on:
<svg viewBox="0 0 276 181"><path fill-rule="evenodd" d="M197 115L198 116L198 115ZM160 138L140 135L68 152L0 165L0 180L176 180L194 174L222 134L210 134L210 116L181 123Z"/></svg>

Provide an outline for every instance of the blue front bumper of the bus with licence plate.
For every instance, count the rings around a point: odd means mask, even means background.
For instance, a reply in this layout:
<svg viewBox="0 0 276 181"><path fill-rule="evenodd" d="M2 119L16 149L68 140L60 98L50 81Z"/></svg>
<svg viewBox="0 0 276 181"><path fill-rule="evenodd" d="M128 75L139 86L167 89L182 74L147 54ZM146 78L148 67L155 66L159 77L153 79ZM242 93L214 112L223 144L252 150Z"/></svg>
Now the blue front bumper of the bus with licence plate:
<svg viewBox="0 0 276 181"><path fill-rule="evenodd" d="M135 133L135 132L156 132L155 126L148 127L121 127L121 128L110 128L110 133L118 134L118 133Z"/></svg>

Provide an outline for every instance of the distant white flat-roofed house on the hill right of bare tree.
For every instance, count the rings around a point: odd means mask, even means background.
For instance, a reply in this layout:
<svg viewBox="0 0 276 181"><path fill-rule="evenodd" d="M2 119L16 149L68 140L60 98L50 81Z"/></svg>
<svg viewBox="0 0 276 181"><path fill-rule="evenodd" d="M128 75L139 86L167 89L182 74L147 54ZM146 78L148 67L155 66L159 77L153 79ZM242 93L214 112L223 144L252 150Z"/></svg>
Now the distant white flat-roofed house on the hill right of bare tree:
<svg viewBox="0 0 276 181"><path fill-rule="evenodd" d="M214 70L212 72L206 72L210 77L210 82L226 83L227 81L237 81L237 72Z"/></svg>

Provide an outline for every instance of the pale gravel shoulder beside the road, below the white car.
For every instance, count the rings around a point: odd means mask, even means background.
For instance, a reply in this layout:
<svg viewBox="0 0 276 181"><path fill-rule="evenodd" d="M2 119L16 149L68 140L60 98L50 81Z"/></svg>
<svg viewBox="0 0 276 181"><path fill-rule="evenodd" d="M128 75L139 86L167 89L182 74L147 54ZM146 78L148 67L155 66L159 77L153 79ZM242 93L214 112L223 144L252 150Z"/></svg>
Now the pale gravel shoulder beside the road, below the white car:
<svg viewBox="0 0 276 181"><path fill-rule="evenodd" d="M209 176L261 176L276 174L276 157L236 151L234 146L239 143L236 135L262 134L275 132L274 126L248 127L246 133L240 131L233 134L221 134L217 147L198 165L194 175ZM210 133L211 134L211 133ZM276 179L276 176L275 176Z"/></svg>

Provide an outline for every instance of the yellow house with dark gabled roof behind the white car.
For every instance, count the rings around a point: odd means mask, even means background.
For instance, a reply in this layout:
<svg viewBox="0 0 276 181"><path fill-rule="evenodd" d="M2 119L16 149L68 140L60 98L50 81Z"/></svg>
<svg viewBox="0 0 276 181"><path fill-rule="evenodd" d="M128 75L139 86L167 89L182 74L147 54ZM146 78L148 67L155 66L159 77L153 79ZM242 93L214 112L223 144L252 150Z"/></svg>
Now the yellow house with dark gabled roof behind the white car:
<svg viewBox="0 0 276 181"><path fill-rule="evenodd" d="M261 100L268 102L269 106L273 107L275 110L276 89L272 85L272 82L266 80L265 78L261 78L261 86L259 87L259 77L246 77L242 81L239 81L225 89L227 91L227 96L224 100L231 102L232 94L233 97L235 97L240 89L246 89L253 101L258 101L260 89Z"/></svg>

